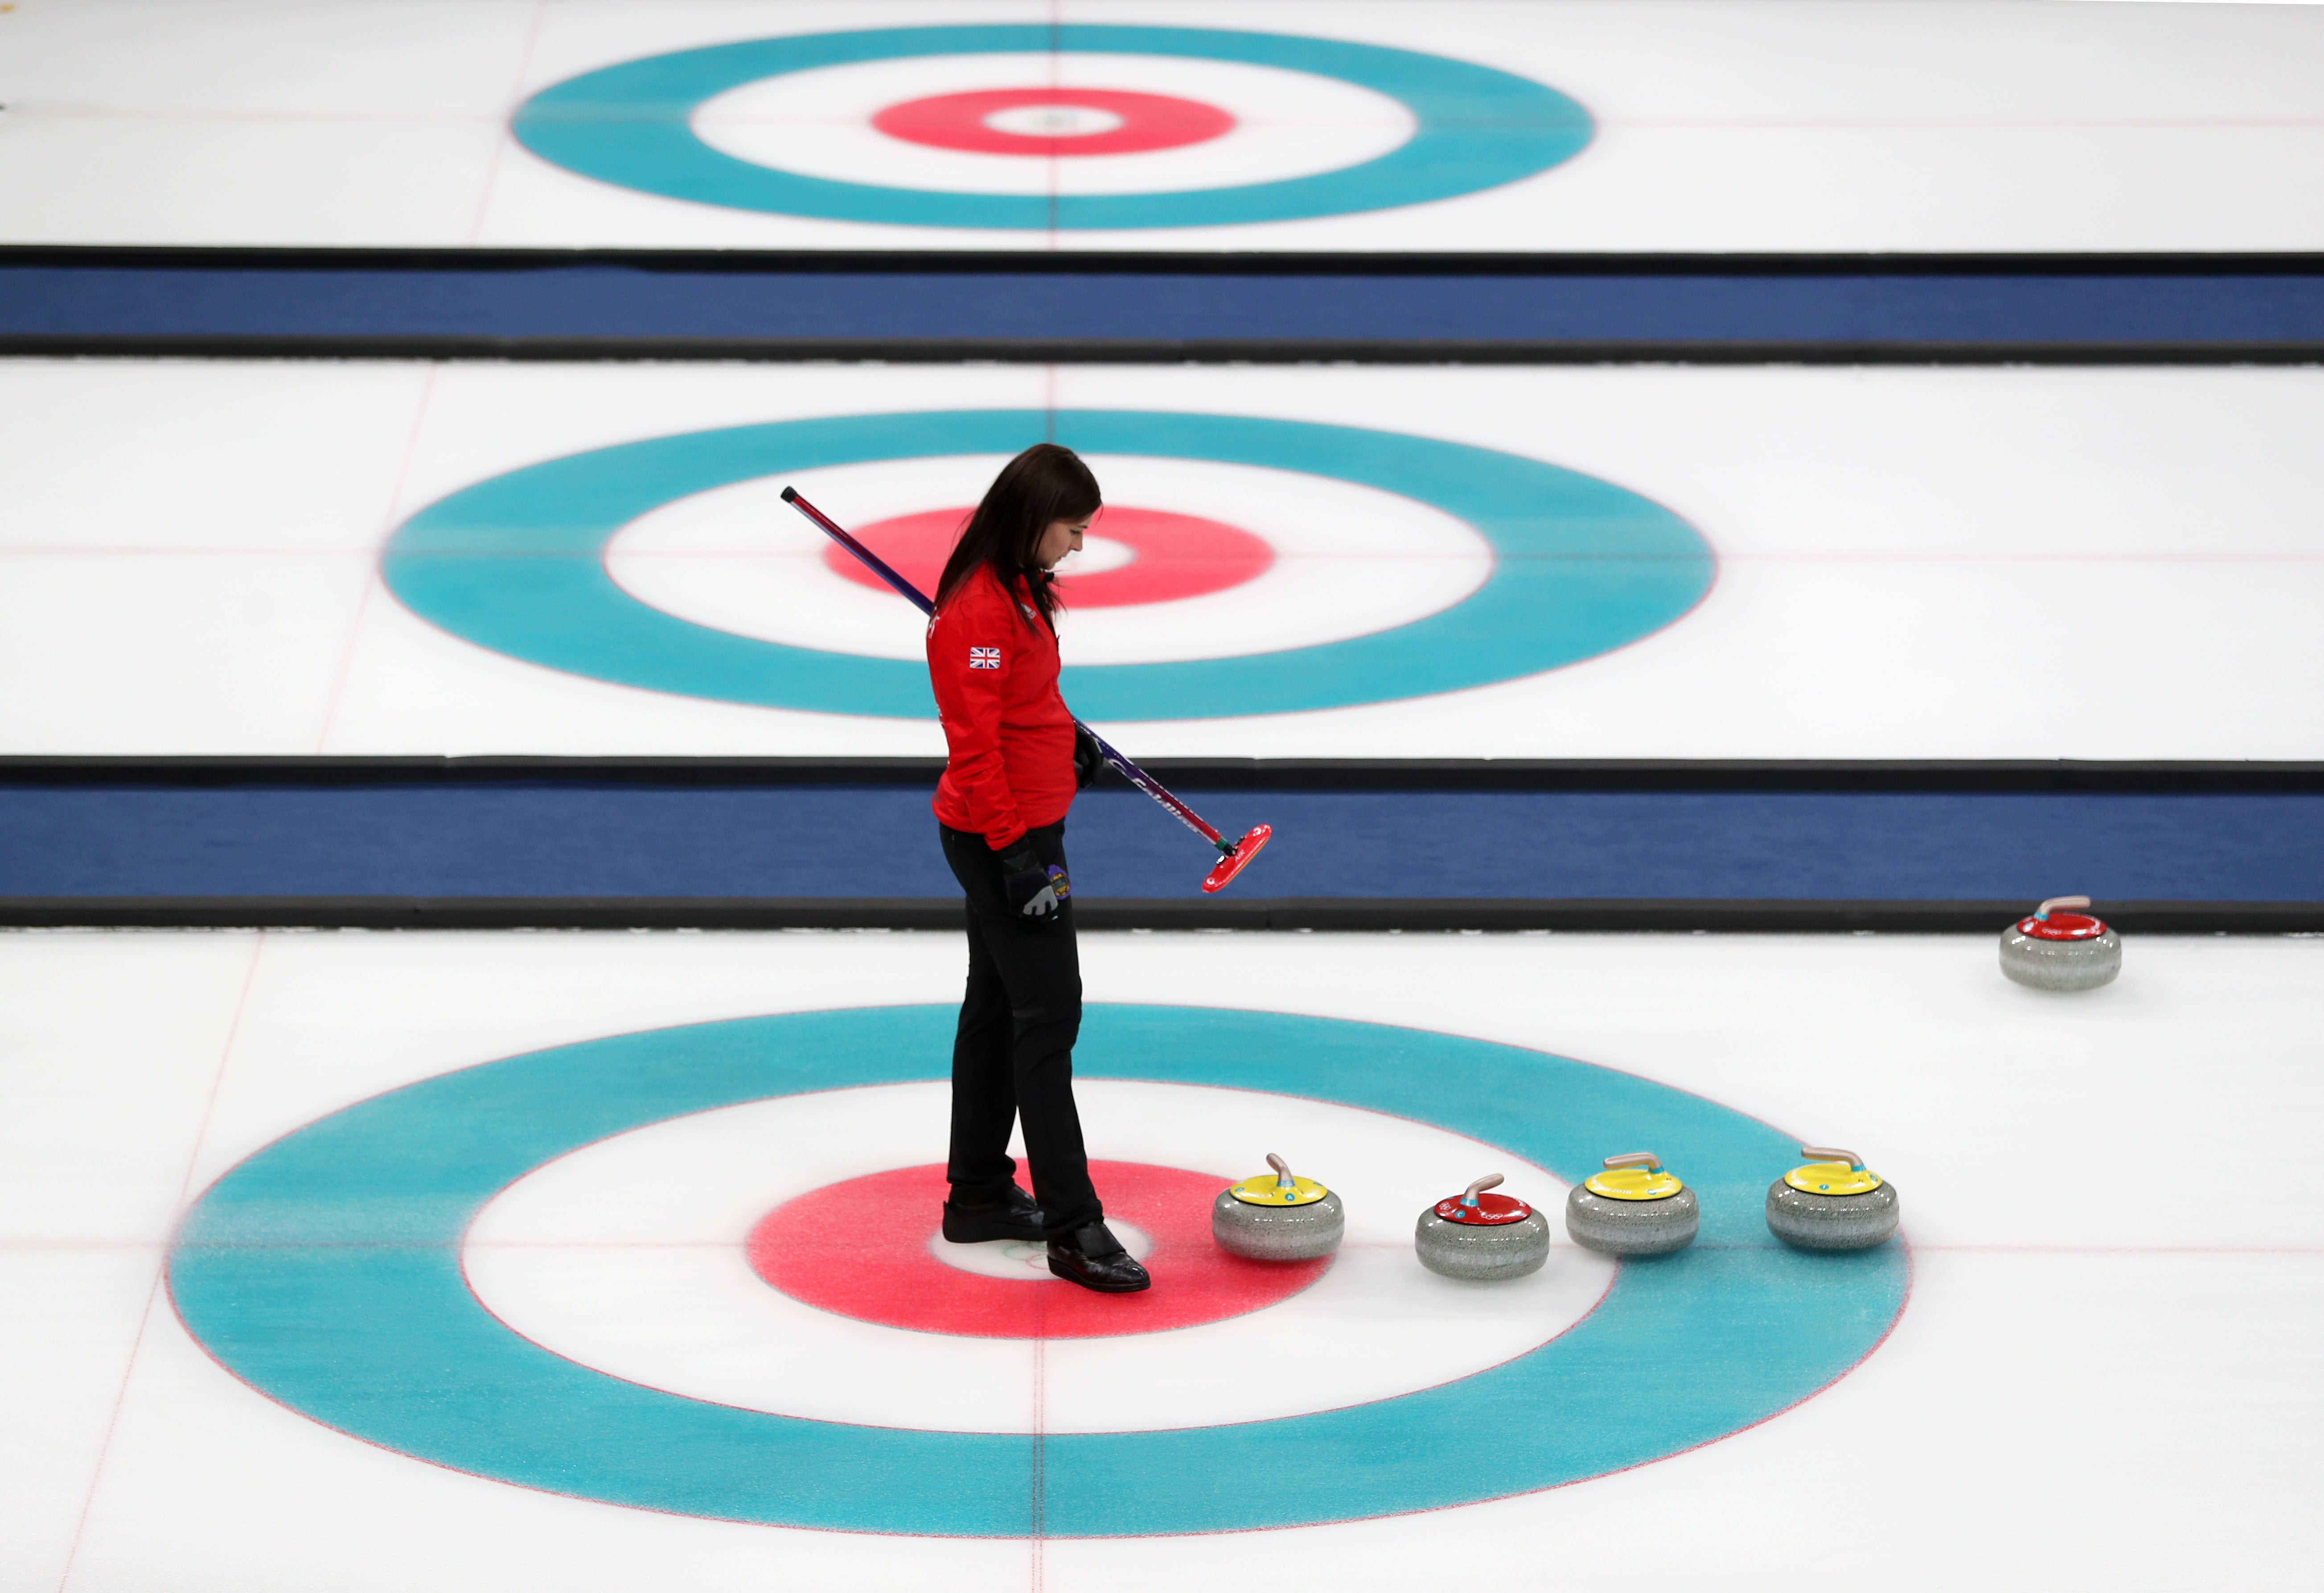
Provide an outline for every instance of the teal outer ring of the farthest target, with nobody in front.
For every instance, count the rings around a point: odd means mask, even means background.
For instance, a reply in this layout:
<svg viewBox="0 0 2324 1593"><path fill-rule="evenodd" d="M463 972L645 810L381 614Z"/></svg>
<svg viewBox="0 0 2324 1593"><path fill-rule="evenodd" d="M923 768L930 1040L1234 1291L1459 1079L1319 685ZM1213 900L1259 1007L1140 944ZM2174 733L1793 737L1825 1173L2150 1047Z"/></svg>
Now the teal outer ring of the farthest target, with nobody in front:
<svg viewBox="0 0 2324 1593"><path fill-rule="evenodd" d="M1390 153L1336 172L1234 188L1050 200L804 176L720 153L695 137L690 123L704 100L783 72L1016 51L1185 56L1313 72L1401 100L1418 128ZM1590 144L1592 121L1545 84L1446 56L1281 33L1076 23L874 28L683 49L553 84L518 107L514 132L541 160L669 200L823 221L1076 232L1301 221L1448 200L1571 160Z"/></svg>

